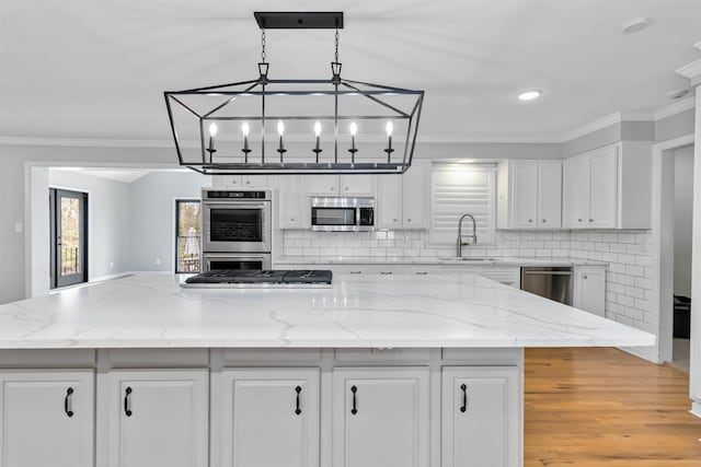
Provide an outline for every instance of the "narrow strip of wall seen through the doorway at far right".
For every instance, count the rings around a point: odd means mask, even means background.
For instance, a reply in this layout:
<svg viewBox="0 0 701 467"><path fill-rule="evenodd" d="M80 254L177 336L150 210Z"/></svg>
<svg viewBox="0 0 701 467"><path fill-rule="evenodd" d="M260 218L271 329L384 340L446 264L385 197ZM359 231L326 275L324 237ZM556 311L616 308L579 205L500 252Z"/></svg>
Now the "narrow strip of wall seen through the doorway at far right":
<svg viewBox="0 0 701 467"><path fill-rule="evenodd" d="M675 279L674 293L691 296L693 213L693 145L675 151Z"/></svg>

